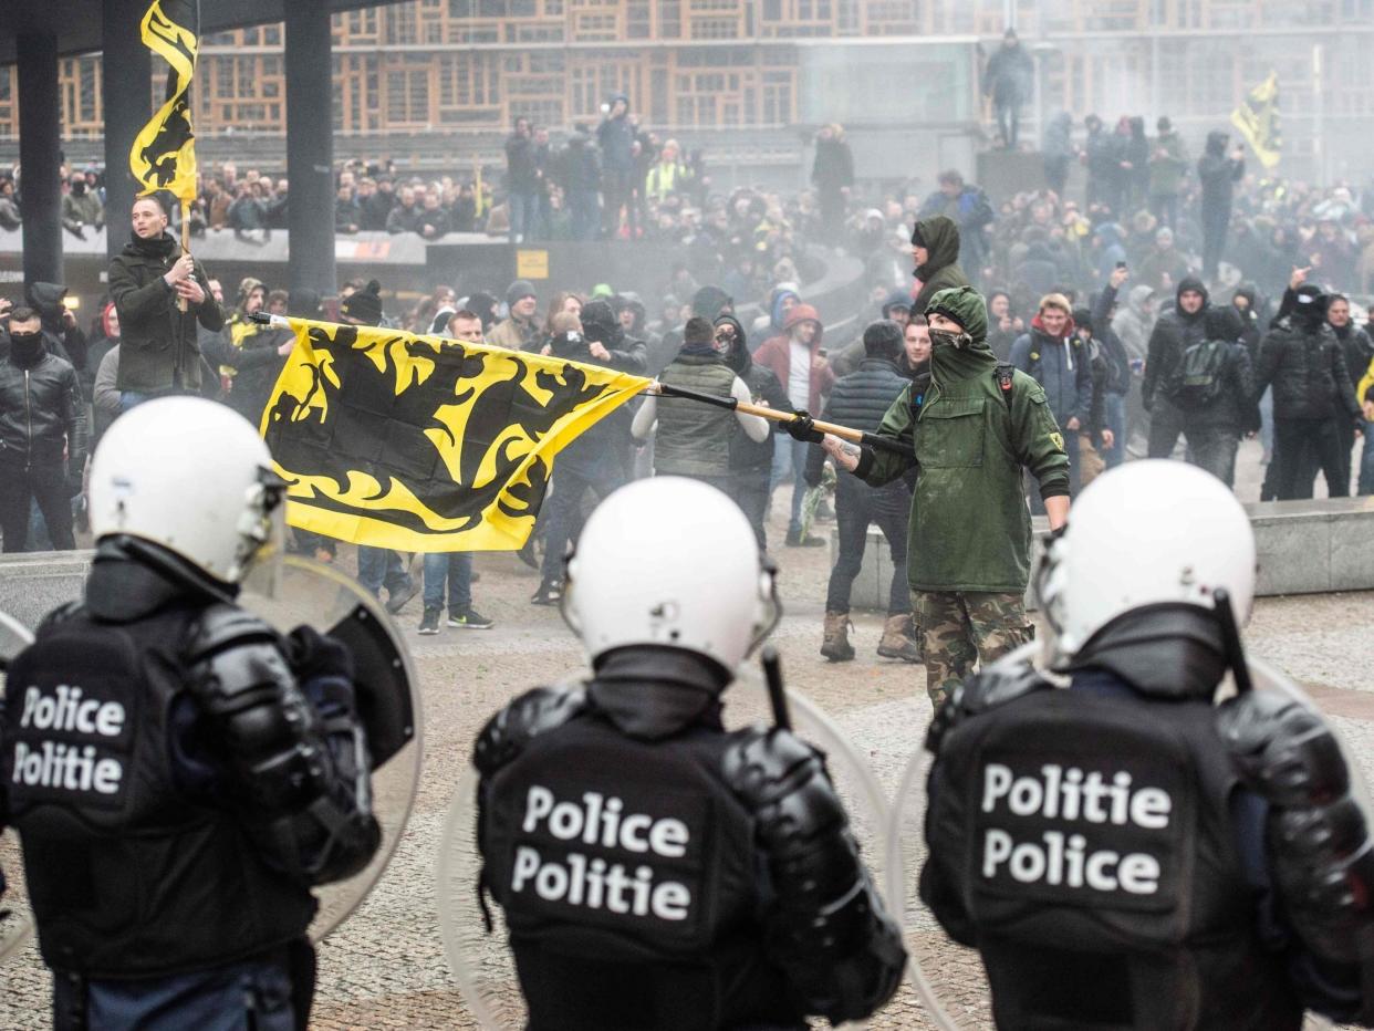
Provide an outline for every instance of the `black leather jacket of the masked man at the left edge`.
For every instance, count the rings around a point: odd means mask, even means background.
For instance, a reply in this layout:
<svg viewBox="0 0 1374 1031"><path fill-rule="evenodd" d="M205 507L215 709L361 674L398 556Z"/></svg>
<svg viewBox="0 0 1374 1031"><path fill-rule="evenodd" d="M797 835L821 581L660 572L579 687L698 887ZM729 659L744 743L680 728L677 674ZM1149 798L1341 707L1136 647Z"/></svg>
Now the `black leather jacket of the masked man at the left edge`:
<svg viewBox="0 0 1374 1031"><path fill-rule="evenodd" d="M70 362L44 352L32 366L0 362L0 458L25 465L85 462L87 423L81 384Z"/></svg>

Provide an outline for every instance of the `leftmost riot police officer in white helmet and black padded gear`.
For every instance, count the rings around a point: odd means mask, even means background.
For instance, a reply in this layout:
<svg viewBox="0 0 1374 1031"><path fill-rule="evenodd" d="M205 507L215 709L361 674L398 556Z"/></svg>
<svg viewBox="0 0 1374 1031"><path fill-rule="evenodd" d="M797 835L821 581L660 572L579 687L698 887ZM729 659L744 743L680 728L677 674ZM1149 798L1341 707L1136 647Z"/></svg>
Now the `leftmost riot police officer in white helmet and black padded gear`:
<svg viewBox="0 0 1374 1031"><path fill-rule="evenodd" d="M350 653L234 601L282 489L201 399L132 410L95 454L84 601L15 657L0 713L59 1030L305 1027L311 887L379 830Z"/></svg>

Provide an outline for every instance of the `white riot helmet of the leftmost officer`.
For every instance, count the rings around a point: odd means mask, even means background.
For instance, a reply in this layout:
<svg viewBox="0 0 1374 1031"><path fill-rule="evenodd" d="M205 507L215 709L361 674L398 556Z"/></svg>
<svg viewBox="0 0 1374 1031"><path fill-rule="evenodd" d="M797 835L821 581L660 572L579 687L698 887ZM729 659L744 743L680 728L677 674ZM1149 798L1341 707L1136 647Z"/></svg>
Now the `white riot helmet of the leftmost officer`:
<svg viewBox="0 0 1374 1031"><path fill-rule="evenodd" d="M221 583L282 540L282 480L238 412L202 397L129 410L91 461L91 531L161 544Z"/></svg>

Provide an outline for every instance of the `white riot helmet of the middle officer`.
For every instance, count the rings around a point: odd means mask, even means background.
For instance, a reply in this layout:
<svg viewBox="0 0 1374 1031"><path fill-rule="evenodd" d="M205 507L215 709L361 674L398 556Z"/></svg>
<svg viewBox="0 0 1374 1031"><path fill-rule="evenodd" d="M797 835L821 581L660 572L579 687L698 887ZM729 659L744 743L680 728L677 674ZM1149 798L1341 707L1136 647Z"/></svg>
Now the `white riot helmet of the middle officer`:
<svg viewBox="0 0 1374 1031"><path fill-rule="evenodd" d="M774 573L739 507L698 480L660 476L616 491L567 559L563 617L595 661L660 645L731 674L778 621Z"/></svg>

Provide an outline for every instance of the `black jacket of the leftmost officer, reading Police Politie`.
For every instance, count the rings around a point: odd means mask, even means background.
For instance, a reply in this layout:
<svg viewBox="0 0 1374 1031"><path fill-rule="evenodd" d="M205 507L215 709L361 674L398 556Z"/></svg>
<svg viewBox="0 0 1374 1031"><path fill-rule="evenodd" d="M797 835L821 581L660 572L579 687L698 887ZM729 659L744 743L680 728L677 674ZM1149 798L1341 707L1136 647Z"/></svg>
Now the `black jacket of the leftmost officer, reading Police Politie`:
<svg viewBox="0 0 1374 1031"><path fill-rule="evenodd" d="M102 546L85 605L49 616L10 667L0 828L19 832L55 971L180 975L300 939L315 916L309 884L250 833L185 694L181 642L205 609Z"/></svg>

